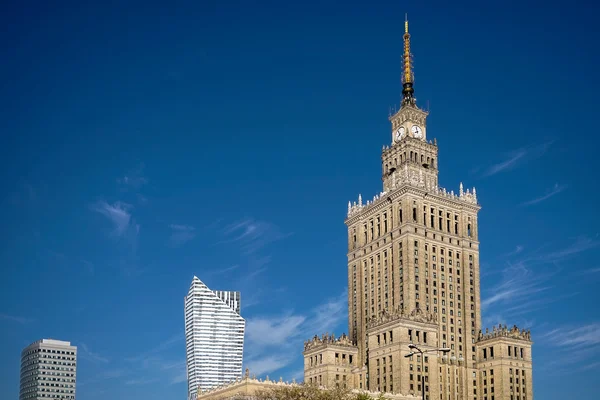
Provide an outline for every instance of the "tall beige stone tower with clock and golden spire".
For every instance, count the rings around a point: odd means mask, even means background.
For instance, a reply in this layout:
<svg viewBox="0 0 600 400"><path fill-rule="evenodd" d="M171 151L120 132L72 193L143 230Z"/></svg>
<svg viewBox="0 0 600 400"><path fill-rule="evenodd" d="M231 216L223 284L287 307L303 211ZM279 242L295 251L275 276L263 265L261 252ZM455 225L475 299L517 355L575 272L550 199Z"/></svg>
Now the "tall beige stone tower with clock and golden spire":
<svg viewBox="0 0 600 400"><path fill-rule="evenodd" d="M475 188L461 183L455 193L438 185L438 146L414 96L408 21L404 28L402 103L389 118L383 190L349 203L345 221L348 338L357 351L344 382L405 395L424 390L431 400L532 399L529 332L498 327L481 334L481 207ZM336 353L334 342L305 343L305 380L331 381L333 372L319 360L335 359L327 357ZM430 353L405 357L409 344Z"/></svg>

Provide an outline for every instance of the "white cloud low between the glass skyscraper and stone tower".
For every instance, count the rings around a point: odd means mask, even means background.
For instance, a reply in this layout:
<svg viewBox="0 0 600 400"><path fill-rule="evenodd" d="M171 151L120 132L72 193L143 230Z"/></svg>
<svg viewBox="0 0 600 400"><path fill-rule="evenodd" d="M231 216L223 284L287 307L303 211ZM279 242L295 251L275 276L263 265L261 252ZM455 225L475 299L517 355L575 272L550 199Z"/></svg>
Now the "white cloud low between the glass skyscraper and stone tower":
<svg viewBox="0 0 600 400"><path fill-rule="evenodd" d="M331 298L307 313L249 318L245 364L256 375L272 373L299 357L299 345L315 334L332 332L346 319L348 294Z"/></svg>

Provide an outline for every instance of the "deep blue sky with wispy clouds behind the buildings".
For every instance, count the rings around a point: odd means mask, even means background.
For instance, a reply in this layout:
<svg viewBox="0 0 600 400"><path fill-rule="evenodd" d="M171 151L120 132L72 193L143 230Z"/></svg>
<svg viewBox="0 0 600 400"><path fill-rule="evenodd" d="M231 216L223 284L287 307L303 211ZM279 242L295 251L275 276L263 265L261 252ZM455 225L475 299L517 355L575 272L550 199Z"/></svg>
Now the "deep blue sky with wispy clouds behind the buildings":
<svg viewBox="0 0 600 400"><path fill-rule="evenodd" d="M346 320L348 200L381 191L408 12L440 183L477 187L483 322L536 398L598 389L596 12L583 2L47 2L0 16L0 383L79 347L78 400L183 399L183 296L242 292L245 361ZM126 4L126 5L125 5Z"/></svg>

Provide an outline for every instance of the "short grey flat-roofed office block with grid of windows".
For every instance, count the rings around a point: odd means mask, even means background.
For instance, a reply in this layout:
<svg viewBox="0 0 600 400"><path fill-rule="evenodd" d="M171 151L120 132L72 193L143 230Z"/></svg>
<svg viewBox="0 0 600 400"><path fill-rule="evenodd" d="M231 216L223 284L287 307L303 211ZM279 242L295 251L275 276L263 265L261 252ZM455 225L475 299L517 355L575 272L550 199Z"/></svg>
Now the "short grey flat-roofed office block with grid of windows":
<svg viewBox="0 0 600 400"><path fill-rule="evenodd" d="M19 400L75 399L77 347L42 339L21 352Z"/></svg>

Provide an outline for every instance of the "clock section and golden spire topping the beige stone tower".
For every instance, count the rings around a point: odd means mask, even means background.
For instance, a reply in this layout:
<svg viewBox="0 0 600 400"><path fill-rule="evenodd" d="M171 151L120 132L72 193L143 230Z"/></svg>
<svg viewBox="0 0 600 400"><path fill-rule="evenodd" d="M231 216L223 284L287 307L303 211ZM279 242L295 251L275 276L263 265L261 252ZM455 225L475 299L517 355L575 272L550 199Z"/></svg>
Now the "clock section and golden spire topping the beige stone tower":
<svg viewBox="0 0 600 400"><path fill-rule="evenodd" d="M404 23L402 105L390 116L392 143L381 155L383 191L396 189L401 182L416 180L426 188L438 186L437 143L427 141L427 111L417 107L410 53L408 21ZM417 183L415 182L415 183Z"/></svg>

